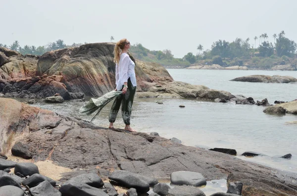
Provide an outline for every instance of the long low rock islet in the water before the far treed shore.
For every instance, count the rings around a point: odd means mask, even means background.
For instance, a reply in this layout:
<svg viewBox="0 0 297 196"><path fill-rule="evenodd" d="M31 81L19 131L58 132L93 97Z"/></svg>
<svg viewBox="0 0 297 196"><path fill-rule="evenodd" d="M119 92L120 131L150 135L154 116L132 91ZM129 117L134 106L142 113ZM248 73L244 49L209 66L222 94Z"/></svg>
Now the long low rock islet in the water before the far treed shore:
<svg viewBox="0 0 297 196"><path fill-rule="evenodd" d="M297 82L297 78L292 76L265 76L265 75L251 75L231 79L230 81L247 81L247 82L264 82L264 83L290 83Z"/></svg>

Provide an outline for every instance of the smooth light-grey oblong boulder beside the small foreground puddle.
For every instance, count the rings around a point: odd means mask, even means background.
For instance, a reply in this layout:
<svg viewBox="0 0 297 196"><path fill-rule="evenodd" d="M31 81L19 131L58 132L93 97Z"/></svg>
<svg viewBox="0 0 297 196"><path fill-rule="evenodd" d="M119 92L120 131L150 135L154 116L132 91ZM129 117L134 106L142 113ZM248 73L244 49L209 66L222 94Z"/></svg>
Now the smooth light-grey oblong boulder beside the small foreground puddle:
<svg viewBox="0 0 297 196"><path fill-rule="evenodd" d="M175 171L170 175L170 181L178 185L203 186L206 180L202 174L193 171Z"/></svg>

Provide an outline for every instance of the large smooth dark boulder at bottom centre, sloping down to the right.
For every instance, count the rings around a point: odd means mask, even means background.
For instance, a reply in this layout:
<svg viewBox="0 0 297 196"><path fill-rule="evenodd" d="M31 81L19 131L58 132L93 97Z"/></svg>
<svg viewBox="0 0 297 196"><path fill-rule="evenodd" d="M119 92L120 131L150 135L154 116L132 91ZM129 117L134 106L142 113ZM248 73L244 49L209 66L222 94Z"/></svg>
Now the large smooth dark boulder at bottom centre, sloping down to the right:
<svg viewBox="0 0 297 196"><path fill-rule="evenodd" d="M149 184L134 173L116 170L108 178L118 185L135 188L139 193L147 193L149 191Z"/></svg>

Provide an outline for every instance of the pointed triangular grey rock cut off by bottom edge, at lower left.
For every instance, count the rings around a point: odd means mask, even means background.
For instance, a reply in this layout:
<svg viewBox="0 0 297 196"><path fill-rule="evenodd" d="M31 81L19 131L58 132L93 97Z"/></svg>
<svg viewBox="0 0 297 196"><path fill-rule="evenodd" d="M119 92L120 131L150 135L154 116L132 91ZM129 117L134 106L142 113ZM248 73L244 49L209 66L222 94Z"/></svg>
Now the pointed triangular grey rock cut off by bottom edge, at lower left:
<svg viewBox="0 0 297 196"><path fill-rule="evenodd" d="M43 181L36 187L30 188L29 193L31 196L62 196L62 194L56 190L49 181Z"/></svg>

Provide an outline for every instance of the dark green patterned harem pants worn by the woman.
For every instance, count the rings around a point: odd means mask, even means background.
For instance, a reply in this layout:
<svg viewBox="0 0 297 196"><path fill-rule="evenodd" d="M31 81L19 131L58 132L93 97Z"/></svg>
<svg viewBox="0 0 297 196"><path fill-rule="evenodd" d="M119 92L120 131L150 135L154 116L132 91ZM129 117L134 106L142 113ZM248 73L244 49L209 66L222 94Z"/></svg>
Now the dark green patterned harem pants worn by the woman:
<svg viewBox="0 0 297 196"><path fill-rule="evenodd" d="M122 94L121 96L118 96L115 98L111 109L109 113L109 122L114 122L117 116L117 113L119 112L120 106L122 104L122 117L124 120L124 123L129 125L130 124L130 117L132 112L132 105L134 100L134 95L136 92L136 86L132 85L131 79L128 78L127 81L127 92L125 94ZM123 85L124 87L124 85ZM118 90L118 89L117 89Z"/></svg>

